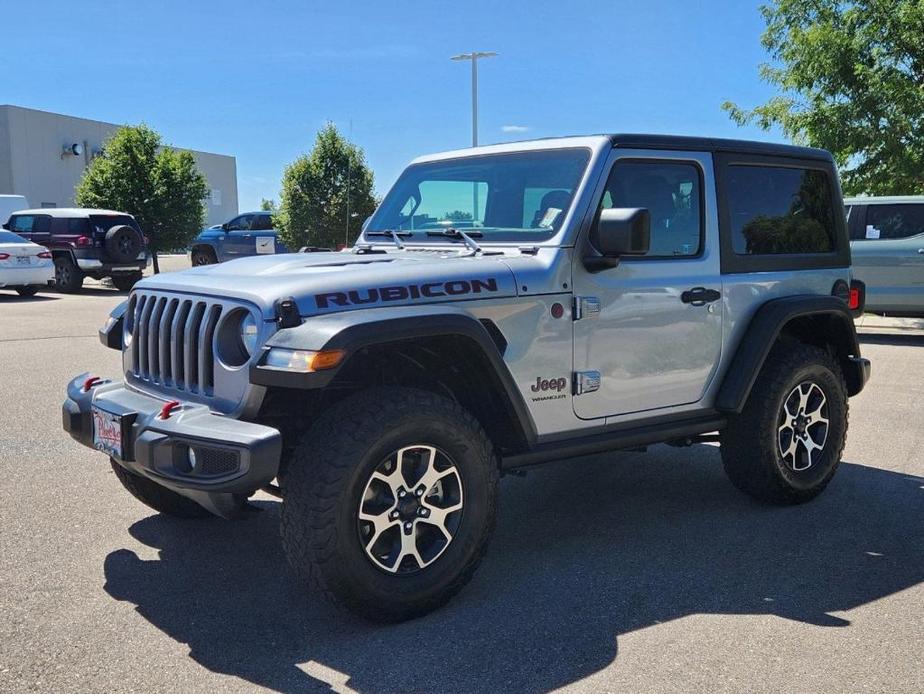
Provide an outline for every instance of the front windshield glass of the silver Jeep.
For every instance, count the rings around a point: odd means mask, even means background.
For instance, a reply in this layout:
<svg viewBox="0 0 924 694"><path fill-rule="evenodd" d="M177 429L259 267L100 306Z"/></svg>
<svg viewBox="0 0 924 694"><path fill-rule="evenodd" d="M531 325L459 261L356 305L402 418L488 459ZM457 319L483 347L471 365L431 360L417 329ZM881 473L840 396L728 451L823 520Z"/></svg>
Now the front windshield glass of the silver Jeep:
<svg viewBox="0 0 924 694"><path fill-rule="evenodd" d="M590 151L581 148L414 164L366 231L420 232L412 243L446 229L487 242L547 239L564 222L589 160Z"/></svg>

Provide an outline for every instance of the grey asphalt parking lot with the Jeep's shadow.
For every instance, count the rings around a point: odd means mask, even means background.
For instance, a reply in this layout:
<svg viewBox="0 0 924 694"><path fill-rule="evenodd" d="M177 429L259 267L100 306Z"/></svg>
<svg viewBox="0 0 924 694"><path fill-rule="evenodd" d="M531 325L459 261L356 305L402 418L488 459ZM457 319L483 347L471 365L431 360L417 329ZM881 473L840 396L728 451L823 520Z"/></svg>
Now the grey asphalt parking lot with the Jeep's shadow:
<svg viewBox="0 0 924 694"><path fill-rule="evenodd" d="M924 691L924 321L864 321L815 502L752 502L709 445L551 464L502 481L448 608L382 627L296 584L275 500L161 517L61 430L123 297L0 292L0 691Z"/></svg>

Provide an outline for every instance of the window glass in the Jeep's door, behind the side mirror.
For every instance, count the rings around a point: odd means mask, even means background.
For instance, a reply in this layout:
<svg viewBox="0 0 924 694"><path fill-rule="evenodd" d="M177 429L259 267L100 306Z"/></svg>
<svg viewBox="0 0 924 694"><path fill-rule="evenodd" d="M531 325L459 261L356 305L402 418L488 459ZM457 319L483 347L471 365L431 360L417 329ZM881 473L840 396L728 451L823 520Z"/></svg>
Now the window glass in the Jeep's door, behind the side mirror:
<svg viewBox="0 0 924 694"><path fill-rule="evenodd" d="M683 257L700 252L703 192L695 164L621 159L613 165L600 207L648 209L651 247L645 257Z"/></svg>

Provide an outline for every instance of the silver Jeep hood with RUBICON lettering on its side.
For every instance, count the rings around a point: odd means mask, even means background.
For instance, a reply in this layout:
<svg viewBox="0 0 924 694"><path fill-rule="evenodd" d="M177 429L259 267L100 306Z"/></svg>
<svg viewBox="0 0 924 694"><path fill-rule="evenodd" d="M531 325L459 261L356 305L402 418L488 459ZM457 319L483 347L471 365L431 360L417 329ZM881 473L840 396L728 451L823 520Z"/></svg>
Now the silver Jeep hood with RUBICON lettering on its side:
<svg viewBox="0 0 924 694"><path fill-rule="evenodd" d="M387 253L287 253L253 256L148 277L138 289L237 298L274 317L292 297L302 316L373 306L516 296L503 254L462 256L455 250Z"/></svg>

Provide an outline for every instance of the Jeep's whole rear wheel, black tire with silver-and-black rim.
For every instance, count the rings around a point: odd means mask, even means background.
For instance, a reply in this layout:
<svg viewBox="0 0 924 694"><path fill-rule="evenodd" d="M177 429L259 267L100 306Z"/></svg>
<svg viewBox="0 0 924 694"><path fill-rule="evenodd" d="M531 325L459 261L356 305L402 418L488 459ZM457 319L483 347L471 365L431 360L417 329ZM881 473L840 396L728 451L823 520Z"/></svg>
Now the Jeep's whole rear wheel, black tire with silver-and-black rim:
<svg viewBox="0 0 924 694"><path fill-rule="evenodd" d="M732 484L773 504L818 496L844 450L847 408L844 375L827 351L777 345L741 414L722 432L722 463Z"/></svg>

